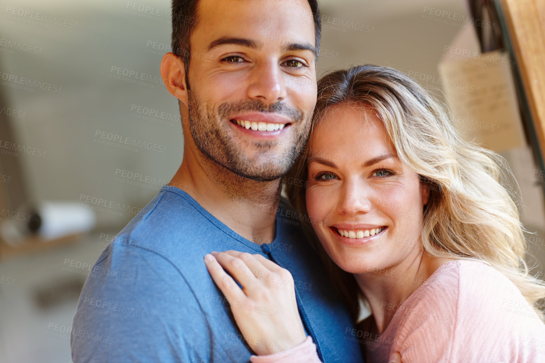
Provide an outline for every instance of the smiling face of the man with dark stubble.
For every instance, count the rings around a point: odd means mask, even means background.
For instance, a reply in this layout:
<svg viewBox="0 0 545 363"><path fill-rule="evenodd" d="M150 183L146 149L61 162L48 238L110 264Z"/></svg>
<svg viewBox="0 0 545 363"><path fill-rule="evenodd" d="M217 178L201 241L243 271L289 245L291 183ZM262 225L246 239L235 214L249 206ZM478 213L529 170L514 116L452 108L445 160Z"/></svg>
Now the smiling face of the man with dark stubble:
<svg viewBox="0 0 545 363"><path fill-rule="evenodd" d="M201 0L188 91L197 148L240 176L282 177L310 130L315 59L307 0Z"/></svg>

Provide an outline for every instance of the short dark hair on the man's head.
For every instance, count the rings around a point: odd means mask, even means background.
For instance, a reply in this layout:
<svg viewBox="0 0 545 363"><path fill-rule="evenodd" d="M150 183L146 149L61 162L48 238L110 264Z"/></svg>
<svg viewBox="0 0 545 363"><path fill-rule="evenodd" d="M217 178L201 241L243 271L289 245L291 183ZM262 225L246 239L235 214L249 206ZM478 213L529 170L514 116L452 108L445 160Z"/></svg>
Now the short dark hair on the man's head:
<svg viewBox="0 0 545 363"><path fill-rule="evenodd" d="M189 89L189 61L191 60L191 43L189 41L197 24L197 6L199 0L172 0L172 52L184 62L185 82ZM308 0L314 18L314 34L316 39L316 54L320 49L322 37L322 19L317 0Z"/></svg>

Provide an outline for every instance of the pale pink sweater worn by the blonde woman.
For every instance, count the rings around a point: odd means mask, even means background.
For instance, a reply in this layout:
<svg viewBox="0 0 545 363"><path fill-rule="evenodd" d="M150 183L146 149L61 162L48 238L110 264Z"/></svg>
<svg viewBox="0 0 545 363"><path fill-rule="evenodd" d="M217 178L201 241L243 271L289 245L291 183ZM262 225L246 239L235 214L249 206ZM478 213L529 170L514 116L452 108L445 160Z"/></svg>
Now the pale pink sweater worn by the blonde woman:
<svg viewBox="0 0 545 363"><path fill-rule="evenodd" d="M517 287L478 261L441 265L392 312L383 334L365 344L370 363L388 362L399 352L403 363L543 363L545 325ZM252 355L253 363L317 363L312 338L292 354Z"/></svg>

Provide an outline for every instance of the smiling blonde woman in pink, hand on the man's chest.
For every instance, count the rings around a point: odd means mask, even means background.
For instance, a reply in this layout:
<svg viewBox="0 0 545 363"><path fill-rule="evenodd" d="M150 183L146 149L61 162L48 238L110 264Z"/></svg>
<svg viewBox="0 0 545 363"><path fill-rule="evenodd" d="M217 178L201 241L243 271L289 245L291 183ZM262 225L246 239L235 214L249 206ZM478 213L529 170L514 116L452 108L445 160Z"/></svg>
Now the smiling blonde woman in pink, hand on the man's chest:
<svg viewBox="0 0 545 363"><path fill-rule="evenodd" d="M318 82L311 138L290 171L306 188L287 191L299 213L323 221L302 222L354 316L360 300L372 311L357 334L368 361L396 352L403 363L545 361L537 305L545 285L524 263L503 166L463 141L438 102L399 71L364 65ZM252 361L319 361L293 288L272 283L289 272L259 255L213 255L205 263L260 355Z"/></svg>

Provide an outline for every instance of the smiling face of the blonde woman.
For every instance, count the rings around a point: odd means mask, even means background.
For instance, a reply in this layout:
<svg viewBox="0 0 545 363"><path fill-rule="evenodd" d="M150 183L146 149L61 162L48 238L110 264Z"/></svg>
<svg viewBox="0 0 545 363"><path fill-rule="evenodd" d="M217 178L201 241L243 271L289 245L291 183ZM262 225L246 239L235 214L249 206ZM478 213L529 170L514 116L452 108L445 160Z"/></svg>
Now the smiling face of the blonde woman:
<svg viewBox="0 0 545 363"><path fill-rule="evenodd" d="M415 256L429 190L397 159L370 107L331 107L312 132L308 156L308 215L337 265L378 272Z"/></svg>

